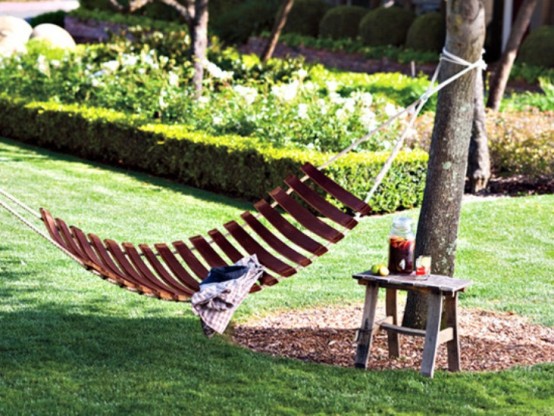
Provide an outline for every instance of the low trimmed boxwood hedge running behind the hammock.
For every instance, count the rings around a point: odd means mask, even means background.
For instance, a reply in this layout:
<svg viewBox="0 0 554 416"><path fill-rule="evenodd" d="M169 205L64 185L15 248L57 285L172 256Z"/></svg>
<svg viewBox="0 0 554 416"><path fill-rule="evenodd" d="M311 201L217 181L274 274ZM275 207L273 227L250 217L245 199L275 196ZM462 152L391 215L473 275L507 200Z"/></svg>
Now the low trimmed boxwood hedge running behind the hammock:
<svg viewBox="0 0 554 416"><path fill-rule="evenodd" d="M111 110L25 103L5 95L0 95L0 111L0 134L6 137L249 200L282 184L303 162L320 165L331 156L277 149L239 136L213 137L182 125L145 124ZM350 153L329 166L327 173L363 196L386 157ZM419 205L426 168L426 153L401 153L371 201L374 210L392 212Z"/></svg>

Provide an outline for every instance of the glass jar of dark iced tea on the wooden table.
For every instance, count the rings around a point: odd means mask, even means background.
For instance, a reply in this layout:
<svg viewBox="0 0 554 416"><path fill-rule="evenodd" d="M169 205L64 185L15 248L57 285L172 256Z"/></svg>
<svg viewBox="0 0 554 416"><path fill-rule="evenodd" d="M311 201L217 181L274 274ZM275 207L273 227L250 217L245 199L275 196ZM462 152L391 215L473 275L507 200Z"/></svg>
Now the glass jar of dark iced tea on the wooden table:
<svg viewBox="0 0 554 416"><path fill-rule="evenodd" d="M396 217L389 236L389 270L410 274L414 270L415 235L411 218Z"/></svg>

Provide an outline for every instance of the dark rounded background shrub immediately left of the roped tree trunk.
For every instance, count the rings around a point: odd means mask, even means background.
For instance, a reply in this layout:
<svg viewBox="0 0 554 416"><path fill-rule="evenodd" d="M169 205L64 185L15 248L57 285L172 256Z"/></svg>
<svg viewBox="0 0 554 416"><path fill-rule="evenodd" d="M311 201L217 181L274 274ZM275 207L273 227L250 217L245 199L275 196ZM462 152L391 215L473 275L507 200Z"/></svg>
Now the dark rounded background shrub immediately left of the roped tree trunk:
<svg viewBox="0 0 554 416"><path fill-rule="evenodd" d="M406 47L418 51L440 52L446 37L446 22L440 13L418 16L406 38Z"/></svg>

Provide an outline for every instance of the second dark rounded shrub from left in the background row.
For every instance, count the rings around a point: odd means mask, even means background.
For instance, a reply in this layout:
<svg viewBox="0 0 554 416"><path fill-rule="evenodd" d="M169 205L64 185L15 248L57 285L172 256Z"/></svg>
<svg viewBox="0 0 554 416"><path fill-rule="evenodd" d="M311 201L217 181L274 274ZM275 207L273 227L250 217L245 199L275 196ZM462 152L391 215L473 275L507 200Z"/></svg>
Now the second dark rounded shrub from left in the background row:
<svg viewBox="0 0 554 416"><path fill-rule="evenodd" d="M354 39L358 36L358 25L367 12L367 9L359 6L333 7L321 20L319 36Z"/></svg>

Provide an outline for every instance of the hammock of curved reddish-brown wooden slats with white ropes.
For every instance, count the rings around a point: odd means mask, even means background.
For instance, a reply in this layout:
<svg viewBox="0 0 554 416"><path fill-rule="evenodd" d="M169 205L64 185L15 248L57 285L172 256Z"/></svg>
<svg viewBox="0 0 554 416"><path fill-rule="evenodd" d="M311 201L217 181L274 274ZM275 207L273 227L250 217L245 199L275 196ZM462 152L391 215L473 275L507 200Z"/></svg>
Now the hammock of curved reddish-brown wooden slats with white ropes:
<svg viewBox="0 0 554 416"><path fill-rule="evenodd" d="M46 235L4 201L0 200L0 206L89 271L130 291L163 300L188 301L199 290L200 282L207 277L209 268L229 265L246 255L256 254L266 270L251 289L251 292L256 292L262 286L272 286L279 282L280 277L289 277L298 269L311 264L314 258L325 254L330 245L340 241L348 231L352 230L361 217L370 214L371 208L368 201L392 165L408 130L427 99L465 73L478 67L483 68L484 65L482 60L470 63L445 50L441 55L441 61L443 60L465 68L439 85L429 87L412 105L353 142L322 167L316 168L310 163L304 164L300 168L303 177L291 175L284 180L286 189L277 187L269 192L271 203L264 199L258 201L254 204L256 214L251 212L241 214L243 224L237 221L227 222L223 225L224 232L215 228L208 231L207 238L196 235L189 238L188 243L185 241L176 241L171 245L159 243L154 244L153 248L147 244L135 246L131 243L120 244L111 239L102 240L95 234L87 234L78 227L67 225L60 218L54 218L46 209L41 208L40 214L34 213L29 207L0 189L1 195L38 216L46 226L48 232ZM438 69L437 67L432 84ZM381 172L375 178L365 201L354 196L322 172L322 169L330 163L406 113L410 113L409 122ZM303 203L299 203L299 200ZM330 200L336 204L329 202ZM347 208L346 212L343 207ZM282 215L283 211L288 213L298 225Z"/></svg>

